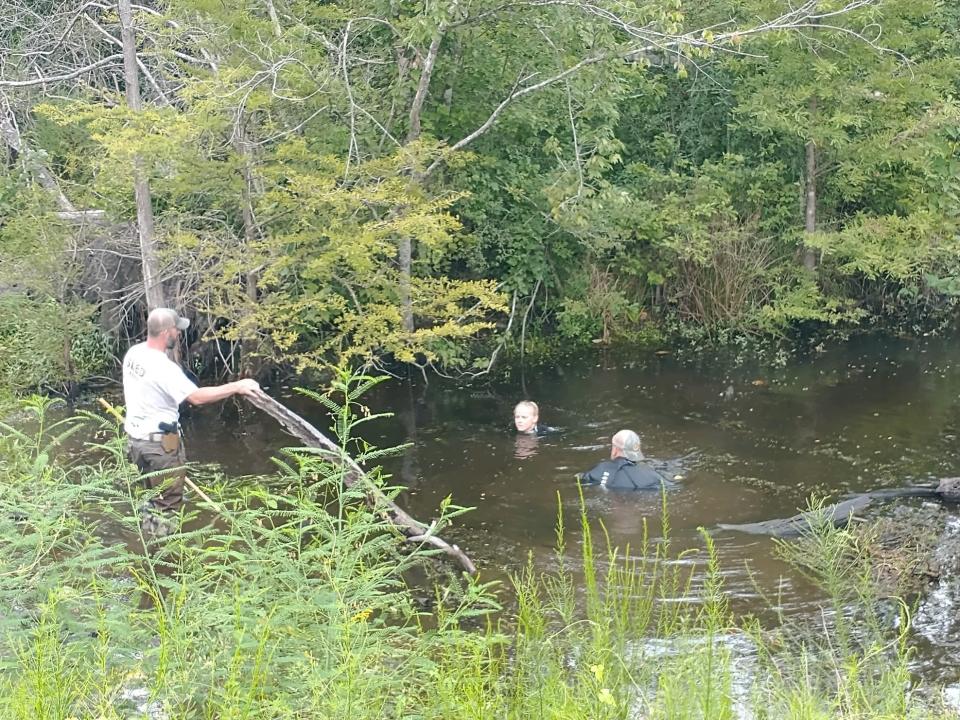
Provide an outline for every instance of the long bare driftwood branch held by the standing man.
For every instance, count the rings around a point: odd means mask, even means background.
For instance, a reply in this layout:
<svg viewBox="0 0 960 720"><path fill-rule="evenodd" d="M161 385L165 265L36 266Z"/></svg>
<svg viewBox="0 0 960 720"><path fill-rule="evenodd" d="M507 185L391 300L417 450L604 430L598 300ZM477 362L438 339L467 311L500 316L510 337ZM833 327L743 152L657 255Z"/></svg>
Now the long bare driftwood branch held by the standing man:
<svg viewBox="0 0 960 720"><path fill-rule="evenodd" d="M349 455L343 452L339 445L317 430L302 417L285 405L277 402L264 392L258 391L247 395L247 399L267 415L276 420L283 428L300 440L307 447L318 448L329 454L331 461L342 463L344 468L343 482L347 487L359 486L366 493L371 507L384 508L385 515L406 536L407 542L426 543L443 550L456 560L471 575L477 572L476 566L456 545L451 545L443 538L433 534L433 525L424 525L414 520L400 507L389 500L380 488L367 477L367 474Z"/></svg>

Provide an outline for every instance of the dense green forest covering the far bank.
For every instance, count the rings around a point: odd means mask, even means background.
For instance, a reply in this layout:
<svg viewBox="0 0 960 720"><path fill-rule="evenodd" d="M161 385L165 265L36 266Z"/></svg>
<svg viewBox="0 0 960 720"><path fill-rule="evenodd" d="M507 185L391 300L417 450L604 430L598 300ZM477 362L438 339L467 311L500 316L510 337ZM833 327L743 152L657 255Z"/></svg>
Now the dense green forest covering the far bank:
<svg viewBox="0 0 960 720"><path fill-rule="evenodd" d="M960 6L0 0L0 387L945 327Z"/></svg>

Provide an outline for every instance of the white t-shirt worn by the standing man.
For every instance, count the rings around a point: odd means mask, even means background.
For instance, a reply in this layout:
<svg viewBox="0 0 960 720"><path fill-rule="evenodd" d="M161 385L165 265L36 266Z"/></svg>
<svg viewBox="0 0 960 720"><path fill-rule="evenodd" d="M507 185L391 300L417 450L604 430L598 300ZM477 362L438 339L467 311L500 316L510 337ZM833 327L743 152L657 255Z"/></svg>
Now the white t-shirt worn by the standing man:
<svg viewBox="0 0 960 720"><path fill-rule="evenodd" d="M123 356L123 397L127 418L123 429L135 440L146 440L160 432L160 423L175 423L180 417L180 403L197 386L165 353L134 345Z"/></svg>

